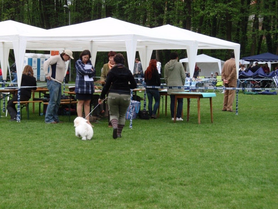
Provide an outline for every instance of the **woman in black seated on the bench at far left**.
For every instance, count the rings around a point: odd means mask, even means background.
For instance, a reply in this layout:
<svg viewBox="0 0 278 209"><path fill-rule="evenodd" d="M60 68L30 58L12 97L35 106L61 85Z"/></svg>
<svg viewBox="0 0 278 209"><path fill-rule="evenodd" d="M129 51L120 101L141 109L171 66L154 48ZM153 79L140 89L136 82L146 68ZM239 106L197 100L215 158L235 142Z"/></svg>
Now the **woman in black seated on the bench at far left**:
<svg viewBox="0 0 278 209"><path fill-rule="evenodd" d="M25 88L29 87L29 88ZM32 66L26 65L22 72L21 78L21 93L20 93L20 101L29 101L31 98L31 91L37 89L36 78L34 77L34 71ZM17 109L14 102L17 101L17 96L14 96L11 100L8 101L7 110L11 116L10 121L17 120Z"/></svg>

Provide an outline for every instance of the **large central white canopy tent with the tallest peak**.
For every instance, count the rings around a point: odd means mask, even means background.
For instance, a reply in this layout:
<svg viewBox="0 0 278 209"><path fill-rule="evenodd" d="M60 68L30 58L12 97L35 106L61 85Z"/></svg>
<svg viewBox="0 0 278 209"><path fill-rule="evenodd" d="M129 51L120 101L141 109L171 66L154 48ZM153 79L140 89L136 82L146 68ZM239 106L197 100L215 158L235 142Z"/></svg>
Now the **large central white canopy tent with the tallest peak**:
<svg viewBox="0 0 278 209"><path fill-rule="evenodd" d="M111 30L109 25L113 25ZM89 21L85 23L64 26L47 30L46 33L32 33L20 36L21 46L30 43L50 44L53 47L63 46L72 51L80 51L73 44L78 44L91 51L92 64L95 64L98 51L127 51L129 69L133 71L136 51L139 52L143 69L146 69L151 53L165 45L178 46L182 40L172 39L169 36L159 36L150 28L138 26L111 17ZM184 48L193 48L194 40L182 41ZM77 57L76 57L77 59Z"/></svg>

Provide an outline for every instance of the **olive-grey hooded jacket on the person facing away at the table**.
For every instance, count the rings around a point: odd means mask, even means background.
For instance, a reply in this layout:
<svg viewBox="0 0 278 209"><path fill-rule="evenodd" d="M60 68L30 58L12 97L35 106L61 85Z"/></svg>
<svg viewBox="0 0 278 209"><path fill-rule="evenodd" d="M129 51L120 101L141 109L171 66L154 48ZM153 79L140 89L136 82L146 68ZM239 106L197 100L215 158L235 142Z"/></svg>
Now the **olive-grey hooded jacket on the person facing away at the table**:
<svg viewBox="0 0 278 209"><path fill-rule="evenodd" d="M186 75L182 63L178 60L170 60L164 67L164 80L169 87L184 86ZM184 92L184 89L168 89L167 93Z"/></svg>

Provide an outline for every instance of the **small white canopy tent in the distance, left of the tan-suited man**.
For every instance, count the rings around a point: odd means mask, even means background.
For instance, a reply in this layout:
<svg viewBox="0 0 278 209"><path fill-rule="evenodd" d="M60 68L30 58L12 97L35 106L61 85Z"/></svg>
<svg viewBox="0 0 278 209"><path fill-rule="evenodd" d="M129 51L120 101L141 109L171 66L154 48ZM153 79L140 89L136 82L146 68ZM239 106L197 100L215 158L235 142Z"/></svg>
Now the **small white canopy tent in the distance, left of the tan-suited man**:
<svg viewBox="0 0 278 209"><path fill-rule="evenodd" d="M181 59L180 62L188 63L188 58ZM213 74L217 72L219 75L221 75L221 69L224 65L224 61L210 57L205 54L197 55L196 63L197 66L201 69L199 75L205 77L210 77L211 72L213 72ZM188 65L186 65L186 72L189 72Z"/></svg>

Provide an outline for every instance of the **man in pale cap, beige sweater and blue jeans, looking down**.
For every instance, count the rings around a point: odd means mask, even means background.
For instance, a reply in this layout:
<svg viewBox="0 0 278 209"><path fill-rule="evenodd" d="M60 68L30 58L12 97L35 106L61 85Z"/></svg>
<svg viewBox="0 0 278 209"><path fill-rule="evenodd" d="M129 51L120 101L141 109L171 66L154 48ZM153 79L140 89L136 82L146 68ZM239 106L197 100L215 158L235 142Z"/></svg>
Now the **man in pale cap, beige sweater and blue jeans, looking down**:
<svg viewBox="0 0 278 209"><path fill-rule="evenodd" d="M50 100L45 113L46 123L60 123L58 118L58 108L61 102L62 88L64 81L66 63L72 57L72 51L66 49L60 55L55 55L46 60L43 64L43 71L47 79L47 89ZM49 67L49 72L48 72Z"/></svg>

